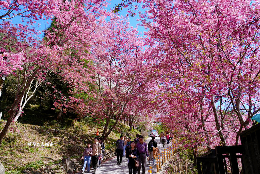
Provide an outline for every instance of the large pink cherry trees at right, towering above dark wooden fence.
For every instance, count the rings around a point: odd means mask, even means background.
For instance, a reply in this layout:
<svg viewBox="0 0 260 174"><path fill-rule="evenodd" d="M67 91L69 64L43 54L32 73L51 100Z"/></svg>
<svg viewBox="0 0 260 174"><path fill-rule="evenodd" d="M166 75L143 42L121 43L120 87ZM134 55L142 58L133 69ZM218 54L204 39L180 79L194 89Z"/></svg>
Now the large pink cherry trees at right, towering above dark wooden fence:
<svg viewBox="0 0 260 174"><path fill-rule="evenodd" d="M148 29L149 57L162 71L161 84L172 93L168 96L177 98L171 110L190 102L179 107L177 118L198 117L197 123L204 125L210 113L211 124L204 131L210 133L213 127L218 136L212 137L220 145L237 145L239 134L260 110L258 1L145 4L149 10L141 14L141 21ZM167 97L164 100L170 100ZM202 109L191 110L196 102ZM208 112L201 114L204 119L198 115L203 110Z"/></svg>

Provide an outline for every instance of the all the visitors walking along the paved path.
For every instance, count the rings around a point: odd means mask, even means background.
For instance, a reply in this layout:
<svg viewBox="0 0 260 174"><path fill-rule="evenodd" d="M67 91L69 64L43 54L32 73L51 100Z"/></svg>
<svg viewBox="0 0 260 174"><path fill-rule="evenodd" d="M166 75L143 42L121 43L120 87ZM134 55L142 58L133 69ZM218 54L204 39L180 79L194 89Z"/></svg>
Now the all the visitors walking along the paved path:
<svg viewBox="0 0 260 174"><path fill-rule="evenodd" d="M163 147L165 146L165 141L170 143L170 134L164 135L161 133L160 142L162 142ZM116 140L116 153L117 153L117 165L121 165L122 158L125 156L128 158L128 170L129 174L140 174L142 167L142 174L145 174L146 161L150 165L155 165L156 156L159 154L159 148L157 147L157 142L155 137L152 136L152 140L144 142L144 137L142 135L136 134L136 138L132 141L131 137L126 137L120 135L120 139ZM103 159L103 152L105 149L105 144L102 142L101 138L95 137L94 143L88 143L87 147L84 149L81 159L84 159L84 166L82 171L86 170L90 172L90 163L94 168L92 173L96 173L99 169L101 161Z"/></svg>

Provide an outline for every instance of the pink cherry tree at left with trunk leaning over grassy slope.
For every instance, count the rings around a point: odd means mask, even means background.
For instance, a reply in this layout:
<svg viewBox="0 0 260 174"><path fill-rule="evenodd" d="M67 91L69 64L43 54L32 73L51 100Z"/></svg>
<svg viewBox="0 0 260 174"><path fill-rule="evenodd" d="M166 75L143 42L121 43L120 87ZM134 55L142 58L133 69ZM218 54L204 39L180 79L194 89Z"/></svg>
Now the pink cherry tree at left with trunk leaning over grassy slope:
<svg viewBox="0 0 260 174"><path fill-rule="evenodd" d="M15 13L14 11L19 10L16 3L19 2L15 1L14 5L2 9L6 10L7 15L12 15ZM28 1L28 3L30 2ZM17 92L9 111L7 123L0 134L0 143L15 116L19 115L19 111L24 104L22 103L23 99L25 99L24 102L28 101L28 91L31 90L30 94L33 95L35 89L40 85L49 85L53 87L55 93L59 93L61 96L55 103L57 107L63 105L61 100L64 100L64 103L70 100L62 95L61 91L55 90L55 84L50 84L48 76L52 73L62 76L69 87L74 89L71 92L77 90L88 91L86 84L93 81L90 64L93 57L89 54L89 50L90 45L93 43L93 31L100 25L97 19L105 14L103 6L106 3L104 4L103 1L99 0L44 1L43 3L45 3L43 5L45 7L43 8L44 13L37 8L28 10L29 14L27 14L28 11L25 8L23 13L24 18L27 18L31 24L35 23L34 20L37 20L35 15L37 16L40 13L42 16L55 16L54 24L56 27L46 30L43 40L37 40L34 37L35 34L39 33L35 28L18 24L17 30L15 30L10 27L12 26L10 21L2 23L4 35L10 34L15 39L11 39L9 42L2 39L1 43L6 45L6 48L11 47L10 52L23 53L24 59L22 64L18 63L22 68L15 74L17 77ZM42 3L40 1L35 2L35 5L37 4ZM8 9L11 9L10 13ZM28 9L31 9L30 5L28 5ZM49 11L46 12L46 9ZM19 30L18 26L20 27ZM15 43L12 44L12 41L15 41ZM4 53L4 55L6 54ZM79 100L72 98L72 101L67 102L67 104L75 101Z"/></svg>

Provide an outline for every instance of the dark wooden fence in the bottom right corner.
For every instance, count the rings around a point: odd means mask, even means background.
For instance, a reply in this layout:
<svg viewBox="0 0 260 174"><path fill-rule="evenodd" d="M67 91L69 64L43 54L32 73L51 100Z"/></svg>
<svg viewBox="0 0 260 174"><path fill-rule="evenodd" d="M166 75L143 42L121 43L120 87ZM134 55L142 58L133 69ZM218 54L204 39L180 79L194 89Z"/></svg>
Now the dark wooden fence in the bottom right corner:
<svg viewBox="0 0 260 174"><path fill-rule="evenodd" d="M259 174L260 124L243 131L239 136L242 145L217 146L197 157L198 174ZM241 160L241 167L237 159Z"/></svg>

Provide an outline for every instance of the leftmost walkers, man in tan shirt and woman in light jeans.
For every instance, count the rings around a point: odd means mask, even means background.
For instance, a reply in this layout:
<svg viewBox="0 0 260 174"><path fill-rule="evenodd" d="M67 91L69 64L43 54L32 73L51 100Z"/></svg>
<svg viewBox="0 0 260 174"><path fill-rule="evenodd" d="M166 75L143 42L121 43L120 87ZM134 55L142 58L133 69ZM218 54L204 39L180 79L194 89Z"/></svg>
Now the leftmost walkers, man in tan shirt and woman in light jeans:
<svg viewBox="0 0 260 174"><path fill-rule="evenodd" d="M81 157L81 160L84 159L82 171L84 172L87 166L87 171L90 172L90 163L92 162L94 168L92 173L96 173L96 170L99 169L99 166L101 165L104 150L105 144L102 142L101 138L95 137L94 143L88 143Z"/></svg>

